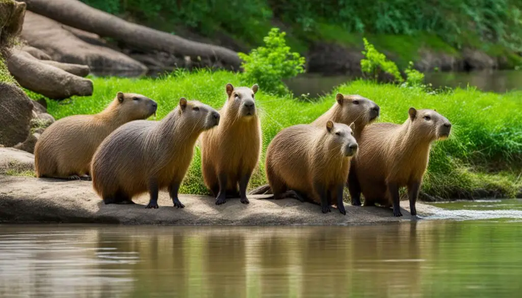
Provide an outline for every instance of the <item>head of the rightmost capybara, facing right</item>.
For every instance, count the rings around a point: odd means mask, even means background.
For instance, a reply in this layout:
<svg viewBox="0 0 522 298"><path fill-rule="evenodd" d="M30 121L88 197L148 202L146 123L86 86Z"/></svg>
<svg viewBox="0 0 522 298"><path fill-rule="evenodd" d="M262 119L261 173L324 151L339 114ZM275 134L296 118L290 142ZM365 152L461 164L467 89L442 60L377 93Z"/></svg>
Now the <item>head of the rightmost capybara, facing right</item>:
<svg viewBox="0 0 522 298"><path fill-rule="evenodd" d="M434 110L416 110L410 108L408 110L410 125L419 136L430 141L437 139L445 139L449 136L452 124L443 115Z"/></svg>

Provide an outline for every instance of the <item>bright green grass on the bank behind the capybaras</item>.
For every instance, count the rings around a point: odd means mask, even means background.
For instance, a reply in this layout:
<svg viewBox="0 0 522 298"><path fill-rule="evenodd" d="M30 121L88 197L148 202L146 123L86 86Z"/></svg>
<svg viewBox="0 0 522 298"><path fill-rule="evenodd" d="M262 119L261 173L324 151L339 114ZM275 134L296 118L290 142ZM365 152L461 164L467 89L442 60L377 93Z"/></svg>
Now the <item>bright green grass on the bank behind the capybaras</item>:
<svg viewBox="0 0 522 298"><path fill-rule="evenodd" d="M240 86L240 76L227 71L176 73L160 79L92 78L94 94L69 101L48 101L49 112L55 118L74 114L100 112L116 92L137 92L158 102L156 120L173 108L180 97L198 99L215 108L225 101L224 86L231 82ZM506 94L484 93L474 89L428 94L421 89L377 85L354 81L335 92L361 94L381 106L379 121L402 123L410 106L436 109L453 124L452 137L436 142L430 154L425 175L424 192L451 198L483 188L513 197L522 188L518 175L522 170L522 92ZM333 92L335 94L335 92ZM334 103L333 95L318 101L303 102L290 94L271 96L260 86L256 94L262 115L263 151L270 140L283 128L310 123ZM266 183L264 156L253 175L251 187ZM185 178L182 192L206 194L200 170L199 151Z"/></svg>

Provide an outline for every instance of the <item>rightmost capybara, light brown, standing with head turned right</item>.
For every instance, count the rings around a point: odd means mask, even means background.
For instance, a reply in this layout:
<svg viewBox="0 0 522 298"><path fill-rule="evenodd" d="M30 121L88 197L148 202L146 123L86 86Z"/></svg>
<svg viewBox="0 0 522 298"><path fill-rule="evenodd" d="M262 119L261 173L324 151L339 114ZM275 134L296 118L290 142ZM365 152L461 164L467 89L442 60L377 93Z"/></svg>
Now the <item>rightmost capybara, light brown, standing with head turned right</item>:
<svg viewBox="0 0 522 298"><path fill-rule="evenodd" d="M353 205L375 203L399 208L399 187L408 187L411 215L416 215L415 202L422 176L428 166L431 143L449 136L452 125L433 110L410 108L403 124L376 123L366 126L358 139L359 154L354 159L348 178Z"/></svg>

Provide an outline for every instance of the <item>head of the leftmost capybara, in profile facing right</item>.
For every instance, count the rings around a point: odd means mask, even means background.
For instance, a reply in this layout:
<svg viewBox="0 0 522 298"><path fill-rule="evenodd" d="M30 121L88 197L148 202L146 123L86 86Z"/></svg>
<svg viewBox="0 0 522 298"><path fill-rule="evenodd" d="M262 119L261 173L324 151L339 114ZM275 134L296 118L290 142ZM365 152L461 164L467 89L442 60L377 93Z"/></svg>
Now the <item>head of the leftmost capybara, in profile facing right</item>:
<svg viewBox="0 0 522 298"><path fill-rule="evenodd" d="M146 119L158 109L155 101L136 93L118 92L115 102L117 109L120 109L118 114L124 115L128 121Z"/></svg>

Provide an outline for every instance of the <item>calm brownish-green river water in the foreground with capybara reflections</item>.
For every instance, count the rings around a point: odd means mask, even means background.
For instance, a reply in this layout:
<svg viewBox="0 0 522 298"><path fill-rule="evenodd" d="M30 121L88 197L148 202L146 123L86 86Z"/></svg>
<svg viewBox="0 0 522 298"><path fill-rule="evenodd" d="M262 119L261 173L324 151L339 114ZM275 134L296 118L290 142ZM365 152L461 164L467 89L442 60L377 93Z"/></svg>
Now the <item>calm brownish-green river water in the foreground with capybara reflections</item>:
<svg viewBox="0 0 522 298"><path fill-rule="evenodd" d="M520 211L522 201L434 206ZM0 225L0 297L515 297L522 216L502 217L360 227Z"/></svg>

